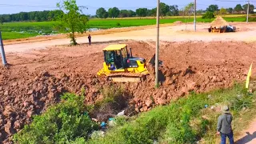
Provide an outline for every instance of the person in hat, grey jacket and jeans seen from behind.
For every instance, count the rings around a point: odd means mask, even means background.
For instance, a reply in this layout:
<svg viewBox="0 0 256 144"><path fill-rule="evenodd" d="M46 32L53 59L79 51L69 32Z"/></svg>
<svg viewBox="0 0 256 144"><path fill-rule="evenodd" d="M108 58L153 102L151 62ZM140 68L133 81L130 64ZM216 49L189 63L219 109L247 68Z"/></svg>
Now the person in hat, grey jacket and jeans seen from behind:
<svg viewBox="0 0 256 144"><path fill-rule="evenodd" d="M232 114L230 114L230 109L228 106L222 107L222 115L218 117L217 124L217 134L221 135L222 142L221 144L226 144L226 137L229 138L230 144L234 144L234 135L231 126Z"/></svg>

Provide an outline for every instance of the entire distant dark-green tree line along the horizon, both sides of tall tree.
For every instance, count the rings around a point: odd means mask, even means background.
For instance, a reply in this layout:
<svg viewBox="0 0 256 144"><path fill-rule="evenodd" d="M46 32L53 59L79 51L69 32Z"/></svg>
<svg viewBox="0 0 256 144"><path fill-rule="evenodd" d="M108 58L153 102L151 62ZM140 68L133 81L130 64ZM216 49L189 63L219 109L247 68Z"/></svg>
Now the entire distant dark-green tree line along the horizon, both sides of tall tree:
<svg viewBox="0 0 256 144"><path fill-rule="evenodd" d="M198 14L213 15L218 14L244 14L247 11L247 4L241 5L238 4L234 8L221 8L219 9L218 5L210 5L206 10L198 10ZM250 14L254 13L254 5L250 5L249 12ZM108 10L103 7L96 10L95 17L97 18L127 18L127 17L148 17L156 16L157 8L147 9L147 8L138 8L137 10L119 10L118 7L113 7ZM178 16L178 15L188 15L194 13L194 4L190 3L181 10L178 9L177 5L169 6L166 3L160 3L160 16ZM22 21L34 21L34 22L43 22L43 21L53 21L56 20L59 16L62 16L64 12L62 10L44 10L44 11L31 11L31 12L21 12L18 14L0 14L0 22L22 22Z"/></svg>

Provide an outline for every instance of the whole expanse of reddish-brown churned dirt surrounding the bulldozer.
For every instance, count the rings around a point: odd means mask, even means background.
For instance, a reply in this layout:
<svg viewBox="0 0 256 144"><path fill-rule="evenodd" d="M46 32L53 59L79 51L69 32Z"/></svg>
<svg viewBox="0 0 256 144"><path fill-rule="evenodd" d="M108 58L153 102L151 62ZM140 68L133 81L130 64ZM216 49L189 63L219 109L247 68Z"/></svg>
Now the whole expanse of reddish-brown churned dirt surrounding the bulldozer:
<svg viewBox="0 0 256 144"><path fill-rule="evenodd" d="M127 41L133 54L149 60L154 42ZM93 46L54 46L26 54L8 54L10 68L0 69L0 142L57 103L59 95L86 91L86 103L94 103L106 86L96 78L102 68L102 49L110 43ZM165 105L190 91L203 92L231 86L246 77L250 63L256 60L255 43L244 42L161 42L160 71L162 86L154 88L154 72L142 83L124 84L130 93L130 106L142 112ZM255 69L254 69L255 70Z"/></svg>

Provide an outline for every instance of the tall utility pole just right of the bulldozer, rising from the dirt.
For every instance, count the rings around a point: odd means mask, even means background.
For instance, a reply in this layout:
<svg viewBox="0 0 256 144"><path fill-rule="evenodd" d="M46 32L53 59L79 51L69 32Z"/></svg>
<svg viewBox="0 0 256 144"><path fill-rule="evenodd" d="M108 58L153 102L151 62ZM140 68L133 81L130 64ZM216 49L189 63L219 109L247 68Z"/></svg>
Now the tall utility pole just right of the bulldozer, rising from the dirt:
<svg viewBox="0 0 256 144"><path fill-rule="evenodd" d="M158 5L157 5L157 42L155 46L155 86L158 86L158 52L159 52L159 5L160 5L160 0L157 0Z"/></svg>

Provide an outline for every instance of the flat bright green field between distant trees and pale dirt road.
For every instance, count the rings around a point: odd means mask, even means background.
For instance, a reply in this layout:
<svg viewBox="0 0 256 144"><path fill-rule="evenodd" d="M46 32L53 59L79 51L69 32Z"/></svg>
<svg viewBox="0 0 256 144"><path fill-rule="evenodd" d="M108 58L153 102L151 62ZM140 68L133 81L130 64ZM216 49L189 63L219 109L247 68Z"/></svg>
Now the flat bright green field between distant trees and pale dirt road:
<svg viewBox="0 0 256 144"><path fill-rule="evenodd" d="M246 17L224 17L228 22L245 22ZM198 22L212 22L214 19L198 18ZM162 18L161 24L173 23L176 21L193 22L194 18ZM8 22L0 25L3 39L29 38L42 34L60 33L54 31L55 22ZM110 29L114 27L146 26L154 25L154 18L116 18L116 19L90 19L88 28ZM22 32L22 33L21 33Z"/></svg>

